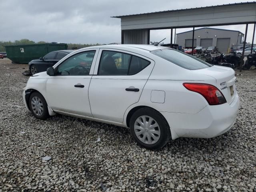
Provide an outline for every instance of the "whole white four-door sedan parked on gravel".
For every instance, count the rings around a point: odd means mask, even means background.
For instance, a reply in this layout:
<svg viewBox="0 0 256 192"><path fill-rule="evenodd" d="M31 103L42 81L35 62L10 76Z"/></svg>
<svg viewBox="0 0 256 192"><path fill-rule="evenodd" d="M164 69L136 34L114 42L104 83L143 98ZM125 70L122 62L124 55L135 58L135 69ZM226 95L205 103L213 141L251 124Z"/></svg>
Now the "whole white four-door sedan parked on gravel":
<svg viewBox="0 0 256 192"><path fill-rule="evenodd" d="M212 138L235 122L234 70L153 45L82 48L24 88L38 119L56 113L128 127L141 146L159 149L178 137Z"/></svg>

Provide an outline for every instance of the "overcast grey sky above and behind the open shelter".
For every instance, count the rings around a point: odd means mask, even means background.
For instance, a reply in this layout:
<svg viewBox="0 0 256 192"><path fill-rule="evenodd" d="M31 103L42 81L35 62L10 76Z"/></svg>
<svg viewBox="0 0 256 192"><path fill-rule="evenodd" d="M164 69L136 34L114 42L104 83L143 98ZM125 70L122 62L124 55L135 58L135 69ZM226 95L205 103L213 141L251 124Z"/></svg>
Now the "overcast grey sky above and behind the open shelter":
<svg viewBox="0 0 256 192"><path fill-rule="evenodd" d="M246 0L248 1L248 0ZM250 1L250 0L249 0ZM0 0L0 41L27 38L35 42L121 42L119 16L163 10L212 6L243 0ZM219 26L245 32L245 25ZM176 33L191 30L177 29ZM252 42L253 24L246 42ZM150 41L166 38L170 30L151 30Z"/></svg>

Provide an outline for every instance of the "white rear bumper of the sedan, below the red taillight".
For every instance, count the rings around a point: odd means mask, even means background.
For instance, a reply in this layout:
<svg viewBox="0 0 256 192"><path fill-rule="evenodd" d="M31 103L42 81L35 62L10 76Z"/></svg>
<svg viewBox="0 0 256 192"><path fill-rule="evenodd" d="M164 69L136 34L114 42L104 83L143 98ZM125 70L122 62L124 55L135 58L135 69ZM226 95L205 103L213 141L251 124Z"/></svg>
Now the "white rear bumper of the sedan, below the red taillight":
<svg viewBox="0 0 256 192"><path fill-rule="evenodd" d="M172 139L178 137L212 138L224 134L235 123L239 108L239 97L232 103L206 106L196 114L161 112L172 132Z"/></svg>

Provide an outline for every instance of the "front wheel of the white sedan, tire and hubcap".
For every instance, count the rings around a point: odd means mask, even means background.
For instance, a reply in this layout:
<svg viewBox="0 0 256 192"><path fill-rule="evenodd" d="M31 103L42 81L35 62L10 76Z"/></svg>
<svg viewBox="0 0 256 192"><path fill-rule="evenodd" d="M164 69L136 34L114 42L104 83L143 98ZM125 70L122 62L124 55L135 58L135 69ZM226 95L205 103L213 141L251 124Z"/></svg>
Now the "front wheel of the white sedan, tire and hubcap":
<svg viewBox="0 0 256 192"><path fill-rule="evenodd" d="M29 105L30 111L37 119L45 120L49 117L46 100L39 92L32 92L29 99Z"/></svg>

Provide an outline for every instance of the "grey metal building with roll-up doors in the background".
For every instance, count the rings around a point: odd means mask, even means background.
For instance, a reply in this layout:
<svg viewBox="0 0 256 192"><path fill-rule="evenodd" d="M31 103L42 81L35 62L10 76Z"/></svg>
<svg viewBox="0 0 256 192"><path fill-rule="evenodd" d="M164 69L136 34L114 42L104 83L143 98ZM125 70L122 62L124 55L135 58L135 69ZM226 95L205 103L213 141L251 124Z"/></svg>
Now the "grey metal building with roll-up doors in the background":
<svg viewBox="0 0 256 192"><path fill-rule="evenodd" d="M192 48L193 30L177 34L176 43L183 48ZM241 44L244 34L236 30L204 27L194 30L194 47L218 47L220 52L228 52L229 48Z"/></svg>

